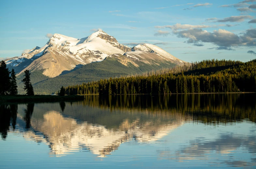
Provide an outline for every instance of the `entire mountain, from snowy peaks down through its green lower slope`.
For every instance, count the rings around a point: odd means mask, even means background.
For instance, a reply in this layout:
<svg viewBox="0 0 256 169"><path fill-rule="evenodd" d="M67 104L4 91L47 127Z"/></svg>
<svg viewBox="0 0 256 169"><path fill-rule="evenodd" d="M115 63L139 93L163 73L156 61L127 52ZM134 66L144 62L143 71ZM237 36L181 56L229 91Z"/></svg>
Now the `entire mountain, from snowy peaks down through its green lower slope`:
<svg viewBox="0 0 256 169"><path fill-rule="evenodd" d="M77 39L55 33L43 47L36 46L20 57L5 60L17 74L19 93L23 94L23 72L31 72L36 94L52 94L62 85L75 85L101 78L138 74L186 63L156 45L132 48L118 43L98 30Z"/></svg>

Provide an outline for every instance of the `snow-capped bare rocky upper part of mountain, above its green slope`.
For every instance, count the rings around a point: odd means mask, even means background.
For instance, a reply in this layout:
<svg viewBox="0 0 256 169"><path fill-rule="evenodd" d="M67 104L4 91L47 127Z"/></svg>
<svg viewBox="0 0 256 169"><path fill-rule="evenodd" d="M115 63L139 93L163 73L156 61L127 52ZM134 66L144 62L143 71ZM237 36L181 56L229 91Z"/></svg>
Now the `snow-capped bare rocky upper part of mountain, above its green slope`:
<svg viewBox="0 0 256 169"><path fill-rule="evenodd" d="M17 75L25 70L30 72L40 70L45 76L56 77L85 64L102 61L114 54L125 55L151 64L154 64L152 60L178 65L184 62L155 45L144 44L133 48L122 45L113 36L100 29L81 39L55 33L43 47L36 46L20 57L5 61L8 68L14 68Z"/></svg>

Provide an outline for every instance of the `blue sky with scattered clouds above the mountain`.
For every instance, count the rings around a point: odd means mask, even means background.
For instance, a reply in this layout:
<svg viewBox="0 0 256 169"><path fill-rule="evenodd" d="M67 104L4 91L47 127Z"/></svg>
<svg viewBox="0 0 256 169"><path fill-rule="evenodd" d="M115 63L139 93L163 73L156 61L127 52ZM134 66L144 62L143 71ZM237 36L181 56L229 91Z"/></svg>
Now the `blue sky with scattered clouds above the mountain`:
<svg viewBox="0 0 256 169"><path fill-rule="evenodd" d="M83 38L100 28L119 43L156 44L189 62L248 61L256 58L256 0L241 1L3 1L0 59L42 47L48 33Z"/></svg>

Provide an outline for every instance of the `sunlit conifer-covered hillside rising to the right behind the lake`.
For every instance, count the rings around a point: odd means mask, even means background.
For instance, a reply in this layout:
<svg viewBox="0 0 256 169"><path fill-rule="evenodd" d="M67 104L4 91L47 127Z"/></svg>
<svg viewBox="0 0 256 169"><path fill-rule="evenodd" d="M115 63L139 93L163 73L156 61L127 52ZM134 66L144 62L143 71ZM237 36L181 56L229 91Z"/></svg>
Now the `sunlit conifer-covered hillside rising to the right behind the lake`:
<svg viewBox="0 0 256 169"><path fill-rule="evenodd" d="M69 85L66 94L256 92L256 59L203 60L182 67Z"/></svg>

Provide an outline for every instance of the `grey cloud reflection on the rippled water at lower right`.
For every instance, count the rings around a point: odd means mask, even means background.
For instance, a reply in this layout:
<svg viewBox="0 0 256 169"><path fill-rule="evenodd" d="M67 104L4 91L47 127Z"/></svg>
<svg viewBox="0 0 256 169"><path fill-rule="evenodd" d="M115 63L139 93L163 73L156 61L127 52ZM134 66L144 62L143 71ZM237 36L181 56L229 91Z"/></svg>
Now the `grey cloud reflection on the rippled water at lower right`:
<svg viewBox="0 0 256 169"><path fill-rule="evenodd" d="M209 140L201 137L189 140L189 145L184 146L171 154L171 151L158 151L162 159L178 160L216 160L216 164L225 163L232 167L255 166L254 158L239 157L235 160L235 153L256 153L256 136L241 136L235 133L222 133L216 139ZM212 157L213 153L221 154L221 158ZM211 157L211 158L209 158ZM216 158L216 159L215 159ZM245 160L245 161L242 161ZM216 165L215 164L215 165ZM213 163L212 163L213 165Z"/></svg>

